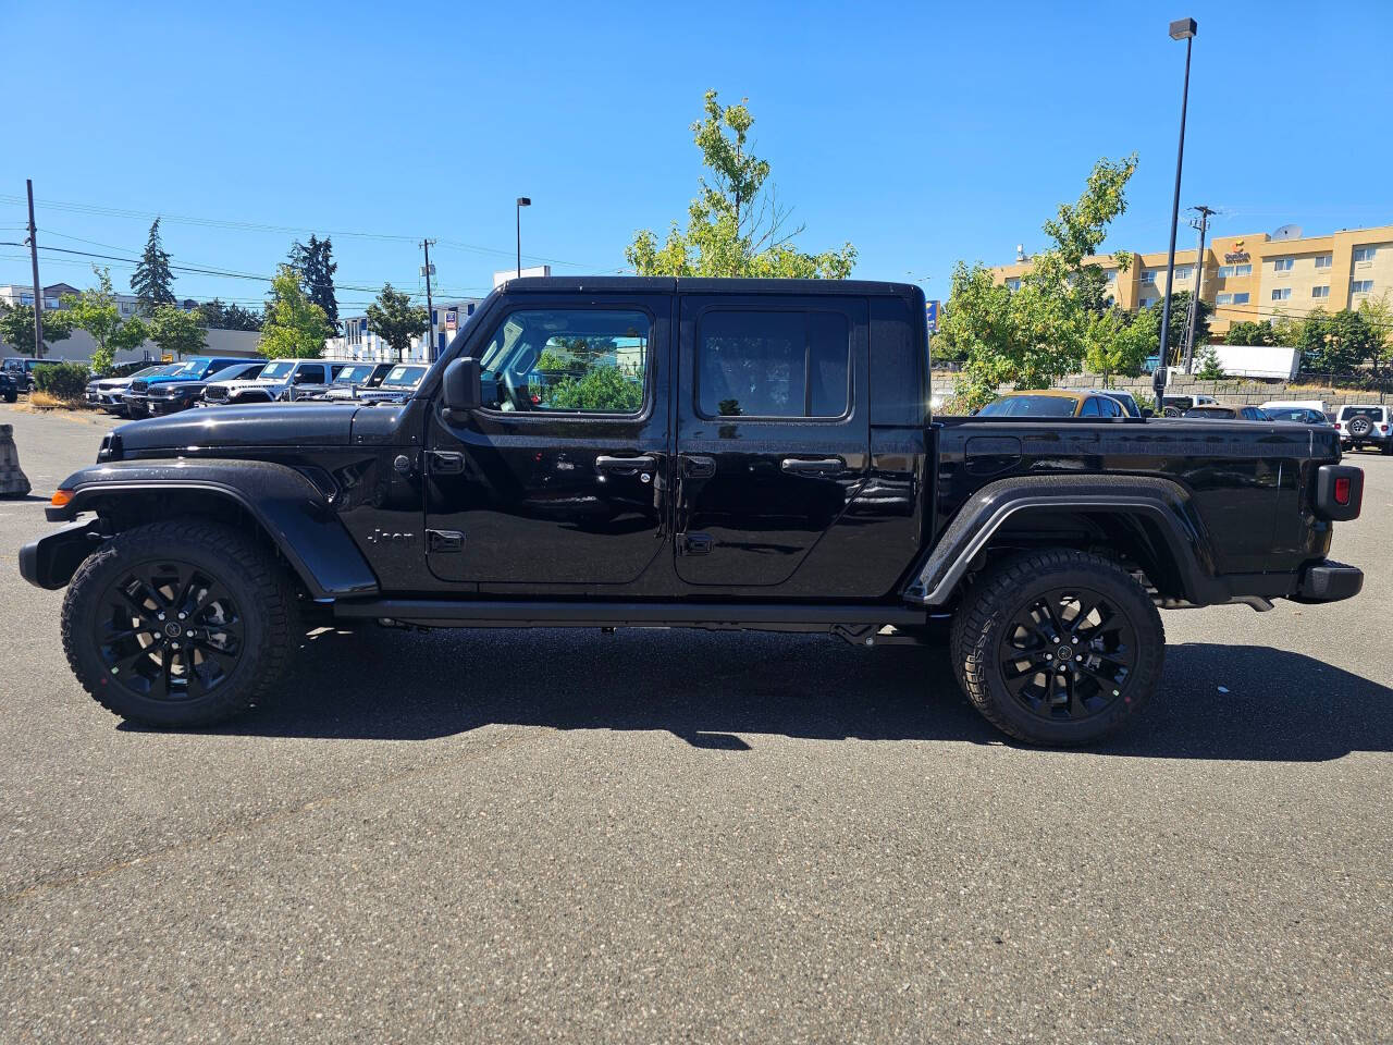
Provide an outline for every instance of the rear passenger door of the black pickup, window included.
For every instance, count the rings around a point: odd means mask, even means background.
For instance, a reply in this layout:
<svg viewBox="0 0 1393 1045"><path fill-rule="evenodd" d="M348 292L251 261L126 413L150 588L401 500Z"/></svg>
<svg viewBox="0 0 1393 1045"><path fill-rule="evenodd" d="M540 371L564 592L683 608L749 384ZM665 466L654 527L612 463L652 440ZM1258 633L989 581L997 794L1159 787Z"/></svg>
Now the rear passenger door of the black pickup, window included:
<svg viewBox="0 0 1393 1045"><path fill-rule="evenodd" d="M868 474L866 301L687 294L680 308L680 582L797 588L820 545L812 587L854 588L834 564Z"/></svg>

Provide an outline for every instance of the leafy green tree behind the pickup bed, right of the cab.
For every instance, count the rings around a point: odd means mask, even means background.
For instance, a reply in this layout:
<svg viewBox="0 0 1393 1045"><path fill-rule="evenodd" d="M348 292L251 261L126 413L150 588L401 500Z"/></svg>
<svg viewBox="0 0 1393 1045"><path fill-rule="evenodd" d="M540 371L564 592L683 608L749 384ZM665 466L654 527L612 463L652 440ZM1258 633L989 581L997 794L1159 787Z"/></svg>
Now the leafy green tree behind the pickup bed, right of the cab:
<svg viewBox="0 0 1393 1045"><path fill-rule="evenodd" d="M1048 387L1075 373L1089 347L1102 353L1102 339L1121 329L1102 319L1098 284L1085 269L1096 255L1107 226L1127 210L1127 181L1137 170L1137 156L1100 159L1088 176L1084 194L1061 203L1045 223L1053 245L1031 259L1018 290L1009 290L975 263L958 262L939 334L947 357L965 358L956 392L956 407L972 410L996 397L996 389ZM1119 251L1119 269L1131 254Z"/></svg>

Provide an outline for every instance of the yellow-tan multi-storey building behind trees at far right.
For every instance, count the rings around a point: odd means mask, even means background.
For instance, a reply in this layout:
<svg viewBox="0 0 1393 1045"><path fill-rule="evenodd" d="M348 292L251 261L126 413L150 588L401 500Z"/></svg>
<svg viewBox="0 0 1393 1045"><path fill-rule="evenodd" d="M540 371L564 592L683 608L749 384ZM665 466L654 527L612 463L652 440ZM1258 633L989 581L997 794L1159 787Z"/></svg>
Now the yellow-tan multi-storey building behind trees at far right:
<svg viewBox="0 0 1393 1045"><path fill-rule="evenodd" d="M1119 308L1155 305L1166 293L1166 251L1133 254L1121 272L1113 255L1091 258L1102 266ZM1199 297L1215 307L1211 330L1222 336L1244 319L1301 318L1314 308L1358 308L1368 297L1393 291L1393 226L1344 229L1330 235L1216 235L1205 244ZM1029 259L992 269L997 283L1017 284ZM1195 248L1176 249L1176 290L1195 288Z"/></svg>

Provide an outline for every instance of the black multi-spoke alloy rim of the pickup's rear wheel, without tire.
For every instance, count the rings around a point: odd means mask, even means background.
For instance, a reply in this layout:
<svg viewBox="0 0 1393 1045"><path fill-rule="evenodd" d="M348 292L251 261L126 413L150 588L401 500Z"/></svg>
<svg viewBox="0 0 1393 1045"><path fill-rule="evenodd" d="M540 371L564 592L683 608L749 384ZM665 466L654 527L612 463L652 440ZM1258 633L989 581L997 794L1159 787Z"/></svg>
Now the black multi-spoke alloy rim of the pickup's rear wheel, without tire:
<svg viewBox="0 0 1393 1045"><path fill-rule="evenodd" d="M1021 603L997 642L1007 691L1032 715L1080 722L1123 699L1137 633L1100 592L1052 588Z"/></svg>

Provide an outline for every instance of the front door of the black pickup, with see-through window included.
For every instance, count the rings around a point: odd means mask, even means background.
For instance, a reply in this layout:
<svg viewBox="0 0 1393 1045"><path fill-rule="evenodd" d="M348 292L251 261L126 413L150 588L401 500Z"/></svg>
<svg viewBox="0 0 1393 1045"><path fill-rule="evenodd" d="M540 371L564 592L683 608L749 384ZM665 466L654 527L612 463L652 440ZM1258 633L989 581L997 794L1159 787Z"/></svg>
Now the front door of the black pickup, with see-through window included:
<svg viewBox="0 0 1393 1045"><path fill-rule="evenodd" d="M432 410L430 571L479 591L585 594L666 571L671 297L517 294L469 347L483 407Z"/></svg>

